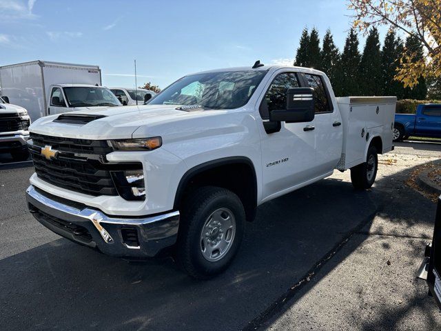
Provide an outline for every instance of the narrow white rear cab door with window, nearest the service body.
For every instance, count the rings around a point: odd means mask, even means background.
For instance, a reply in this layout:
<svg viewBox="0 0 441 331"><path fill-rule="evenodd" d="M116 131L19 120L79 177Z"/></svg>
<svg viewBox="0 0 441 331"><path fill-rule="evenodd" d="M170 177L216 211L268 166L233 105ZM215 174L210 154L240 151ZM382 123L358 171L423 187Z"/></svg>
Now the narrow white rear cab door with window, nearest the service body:
<svg viewBox="0 0 441 331"><path fill-rule="evenodd" d="M316 116L316 164L319 174L331 172L342 154L343 129L338 109L334 109L325 77L318 74L302 74L305 85L314 88Z"/></svg>

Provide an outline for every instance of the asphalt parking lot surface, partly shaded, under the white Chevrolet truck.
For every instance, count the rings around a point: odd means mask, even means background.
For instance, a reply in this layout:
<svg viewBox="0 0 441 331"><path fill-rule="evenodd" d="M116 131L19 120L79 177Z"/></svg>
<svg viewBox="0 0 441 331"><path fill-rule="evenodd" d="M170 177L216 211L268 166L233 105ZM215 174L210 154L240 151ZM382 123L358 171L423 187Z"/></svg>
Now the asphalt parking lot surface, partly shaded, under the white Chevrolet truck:
<svg viewBox="0 0 441 331"><path fill-rule="evenodd" d="M26 209L32 168L0 165L0 329L439 330L416 279L435 203L404 182L440 158L439 143L398 143L369 191L336 172L260 206L210 281L58 237Z"/></svg>

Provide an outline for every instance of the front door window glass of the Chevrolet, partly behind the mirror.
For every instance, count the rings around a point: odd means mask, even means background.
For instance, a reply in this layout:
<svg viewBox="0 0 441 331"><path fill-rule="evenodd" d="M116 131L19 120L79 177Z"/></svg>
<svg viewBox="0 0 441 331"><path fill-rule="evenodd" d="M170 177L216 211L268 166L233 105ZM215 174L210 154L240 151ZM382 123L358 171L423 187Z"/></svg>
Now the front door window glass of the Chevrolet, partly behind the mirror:
<svg viewBox="0 0 441 331"><path fill-rule="evenodd" d="M287 90L289 88L299 88L297 74L294 72L284 72L278 74L269 86L265 97L260 103L260 117L269 119L272 110L285 110L287 106Z"/></svg>

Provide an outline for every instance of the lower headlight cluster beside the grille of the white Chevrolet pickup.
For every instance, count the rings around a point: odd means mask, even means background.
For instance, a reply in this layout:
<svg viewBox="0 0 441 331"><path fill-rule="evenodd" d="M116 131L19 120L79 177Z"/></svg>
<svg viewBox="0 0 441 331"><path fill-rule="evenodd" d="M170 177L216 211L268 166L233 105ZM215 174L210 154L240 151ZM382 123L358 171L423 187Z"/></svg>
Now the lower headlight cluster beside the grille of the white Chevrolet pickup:
<svg viewBox="0 0 441 331"><path fill-rule="evenodd" d="M126 200L145 200L143 169L112 172L116 190Z"/></svg>

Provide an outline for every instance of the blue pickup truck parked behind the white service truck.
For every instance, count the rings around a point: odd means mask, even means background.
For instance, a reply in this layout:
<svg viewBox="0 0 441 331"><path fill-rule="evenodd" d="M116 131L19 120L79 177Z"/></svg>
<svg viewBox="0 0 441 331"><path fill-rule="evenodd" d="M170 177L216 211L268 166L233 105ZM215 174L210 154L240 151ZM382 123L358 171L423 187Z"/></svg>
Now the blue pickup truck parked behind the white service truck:
<svg viewBox="0 0 441 331"><path fill-rule="evenodd" d="M393 141L413 137L441 137L441 104L418 105L416 114L395 114Z"/></svg>

